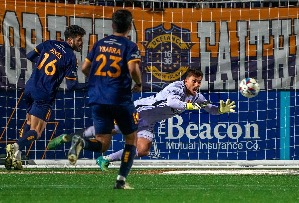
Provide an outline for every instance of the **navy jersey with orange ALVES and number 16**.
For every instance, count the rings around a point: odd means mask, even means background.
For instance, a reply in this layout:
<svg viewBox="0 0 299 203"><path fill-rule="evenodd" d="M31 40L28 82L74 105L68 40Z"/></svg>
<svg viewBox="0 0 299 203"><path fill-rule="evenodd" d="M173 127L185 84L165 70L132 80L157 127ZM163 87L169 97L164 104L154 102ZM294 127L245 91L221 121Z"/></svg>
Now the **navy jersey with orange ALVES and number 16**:
<svg viewBox="0 0 299 203"><path fill-rule="evenodd" d="M76 80L78 61L74 50L57 40L44 41L34 49L39 59L25 88L44 101L54 101L64 77Z"/></svg>

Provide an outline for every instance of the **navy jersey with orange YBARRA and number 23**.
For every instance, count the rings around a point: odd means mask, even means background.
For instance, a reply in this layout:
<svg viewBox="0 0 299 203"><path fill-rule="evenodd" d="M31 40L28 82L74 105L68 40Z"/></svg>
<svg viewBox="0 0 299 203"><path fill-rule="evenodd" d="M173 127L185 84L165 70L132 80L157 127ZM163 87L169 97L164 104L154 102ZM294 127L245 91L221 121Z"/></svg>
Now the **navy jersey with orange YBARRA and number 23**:
<svg viewBox="0 0 299 203"><path fill-rule="evenodd" d="M124 104L132 101L132 78L128 64L141 61L138 46L123 36L97 41L86 61L89 73L89 104Z"/></svg>

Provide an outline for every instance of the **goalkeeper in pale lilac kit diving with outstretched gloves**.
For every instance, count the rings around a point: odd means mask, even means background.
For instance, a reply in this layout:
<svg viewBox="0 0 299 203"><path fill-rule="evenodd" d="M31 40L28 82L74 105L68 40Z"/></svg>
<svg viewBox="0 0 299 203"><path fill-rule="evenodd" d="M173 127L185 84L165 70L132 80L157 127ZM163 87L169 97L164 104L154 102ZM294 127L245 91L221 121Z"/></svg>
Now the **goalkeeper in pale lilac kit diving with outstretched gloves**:
<svg viewBox="0 0 299 203"><path fill-rule="evenodd" d="M202 78L202 71L191 68L187 71L186 79L171 83L156 95L134 101L134 105L139 114L135 158L147 156L149 154L154 137L154 126L157 122L171 118L185 110L204 109L213 115L235 112L233 109L236 107L234 101L230 102L230 99L227 99L226 102L220 100L220 107L218 107L210 104L211 101L206 100L201 93L197 92L201 85ZM112 130L112 135L118 133L121 132L118 125L115 124L115 129ZM65 142L71 141L74 137L80 137L83 149L98 153L102 152L95 147L96 145L86 145L85 143L91 142L84 141L95 137L94 126L69 135L62 134L49 142L48 149L54 149ZM96 163L103 171L107 171L110 162L121 160L122 153L123 150L120 150L107 156L100 156L97 158Z"/></svg>

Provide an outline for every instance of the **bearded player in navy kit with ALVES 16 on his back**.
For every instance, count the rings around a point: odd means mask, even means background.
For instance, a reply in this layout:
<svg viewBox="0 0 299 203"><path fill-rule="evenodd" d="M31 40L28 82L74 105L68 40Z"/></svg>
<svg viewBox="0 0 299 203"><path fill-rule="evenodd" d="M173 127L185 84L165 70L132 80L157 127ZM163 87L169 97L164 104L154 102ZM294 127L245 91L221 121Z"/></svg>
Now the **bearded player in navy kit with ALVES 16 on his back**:
<svg viewBox="0 0 299 203"><path fill-rule="evenodd" d="M18 141L6 146L7 170L12 166L15 169L24 169L21 162L22 149L40 138L49 121L62 80L66 78L68 90L87 88L87 82L76 81L78 61L74 54L74 51L82 50L84 35L83 28L71 25L65 30L65 41L44 41L27 54L27 59L36 63L24 90L27 122L21 129Z"/></svg>

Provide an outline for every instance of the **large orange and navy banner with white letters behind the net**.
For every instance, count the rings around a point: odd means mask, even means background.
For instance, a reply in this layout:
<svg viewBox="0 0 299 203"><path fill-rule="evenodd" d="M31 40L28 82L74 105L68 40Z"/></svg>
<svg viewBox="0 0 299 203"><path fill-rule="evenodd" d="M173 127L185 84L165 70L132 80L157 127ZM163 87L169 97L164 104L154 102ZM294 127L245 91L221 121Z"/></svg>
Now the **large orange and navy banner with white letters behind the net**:
<svg viewBox="0 0 299 203"><path fill-rule="evenodd" d="M71 24L86 30L83 50L75 53L77 78L85 82L80 66L92 45L113 33L112 13L122 9L10 0L0 5L2 90L24 88L35 66L26 54L42 41L64 40ZM158 92L184 79L188 68L204 73L202 90L237 90L245 77L257 79L265 90L298 89L297 7L127 9L133 14L129 38L142 55L143 91Z"/></svg>

